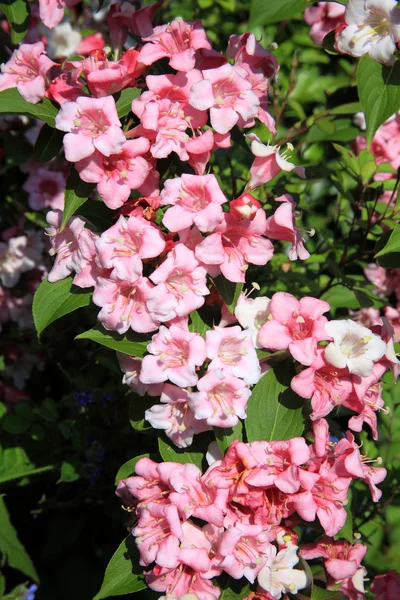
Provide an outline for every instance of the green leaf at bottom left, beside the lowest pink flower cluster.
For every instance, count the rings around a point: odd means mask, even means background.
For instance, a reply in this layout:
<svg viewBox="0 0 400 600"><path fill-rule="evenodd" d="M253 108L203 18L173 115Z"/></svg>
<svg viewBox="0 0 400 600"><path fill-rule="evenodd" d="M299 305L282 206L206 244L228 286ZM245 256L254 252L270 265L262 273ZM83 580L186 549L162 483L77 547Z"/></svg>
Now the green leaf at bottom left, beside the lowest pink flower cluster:
<svg viewBox="0 0 400 600"><path fill-rule="evenodd" d="M138 563L135 538L133 535L128 535L111 557L100 591L93 600L133 594L146 587L143 568Z"/></svg>

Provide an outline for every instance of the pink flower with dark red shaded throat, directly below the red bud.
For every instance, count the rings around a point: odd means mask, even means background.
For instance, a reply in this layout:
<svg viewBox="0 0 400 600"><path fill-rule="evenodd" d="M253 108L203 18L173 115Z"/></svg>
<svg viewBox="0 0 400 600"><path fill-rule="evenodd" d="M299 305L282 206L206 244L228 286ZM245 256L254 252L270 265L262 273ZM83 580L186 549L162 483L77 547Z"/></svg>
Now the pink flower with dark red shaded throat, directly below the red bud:
<svg viewBox="0 0 400 600"><path fill-rule="evenodd" d="M196 257L205 265L217 265L229 281L244 283L247 263L265 265L272 258L273 246L263 237L265 227L263 209L259 209L251 221L237 221L224 213L215 233L197 246Z"/></svg>

